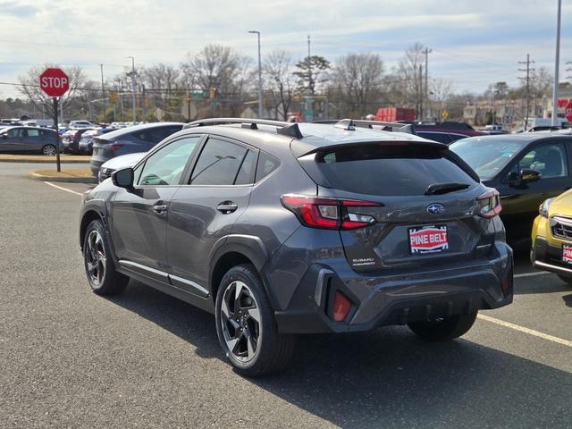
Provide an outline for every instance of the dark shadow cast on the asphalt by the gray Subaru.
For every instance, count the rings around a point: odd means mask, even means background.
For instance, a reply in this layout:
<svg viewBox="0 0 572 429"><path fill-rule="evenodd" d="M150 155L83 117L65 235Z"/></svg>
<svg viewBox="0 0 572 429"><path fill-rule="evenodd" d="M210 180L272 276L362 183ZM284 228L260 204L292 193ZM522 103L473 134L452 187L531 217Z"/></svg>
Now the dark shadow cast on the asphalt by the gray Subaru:
<svg viewBox="0 0 572 429"><path fill-rule="evenodd" d="M200 357L223 359L213 315L138 282L110 300L178 335ZM572 374L467 340L426 343L403 327L300 336L285 373L250 383L341 427L569 427L572 421Z"/></svg>

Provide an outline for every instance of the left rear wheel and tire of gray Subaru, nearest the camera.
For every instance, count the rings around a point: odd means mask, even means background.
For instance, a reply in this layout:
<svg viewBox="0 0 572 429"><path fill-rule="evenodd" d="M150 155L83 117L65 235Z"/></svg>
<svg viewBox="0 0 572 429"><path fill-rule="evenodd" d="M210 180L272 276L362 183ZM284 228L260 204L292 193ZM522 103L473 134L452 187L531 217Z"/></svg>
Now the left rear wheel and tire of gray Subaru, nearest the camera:
<svg viewBox="0 0 572 429"><path fill-rule="evenodd" d="M215 317L224 354L240 374L276 373L294 356L296 337L278 333L264 285L252 265L237 265L224 274L216 294Z"/></svg>

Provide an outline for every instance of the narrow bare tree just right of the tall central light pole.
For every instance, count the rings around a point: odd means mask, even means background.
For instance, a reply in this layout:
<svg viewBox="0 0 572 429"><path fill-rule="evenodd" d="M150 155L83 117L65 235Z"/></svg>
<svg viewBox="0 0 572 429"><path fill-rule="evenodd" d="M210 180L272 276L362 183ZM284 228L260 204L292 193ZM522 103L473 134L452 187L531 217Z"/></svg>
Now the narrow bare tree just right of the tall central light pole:
<svg viewBox="0 0 572 429"><path fill-rule="evenodd" d="M265 87L273 101L274 116L286 121L294 95L292 59L288 51L275 49L265 58Z"/></svg>

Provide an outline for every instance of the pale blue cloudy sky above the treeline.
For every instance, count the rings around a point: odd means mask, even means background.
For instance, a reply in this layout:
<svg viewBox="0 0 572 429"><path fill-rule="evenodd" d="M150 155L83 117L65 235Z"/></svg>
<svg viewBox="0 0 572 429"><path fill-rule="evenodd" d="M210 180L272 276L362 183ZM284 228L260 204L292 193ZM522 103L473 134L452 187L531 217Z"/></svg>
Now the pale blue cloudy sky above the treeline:
<svg viewBox="0 0 572 429"><path fill-rule="evenodd" d="M15 82L30 66L81 65L99 79L130 65L181 63L208 43L257 55L287 49L335 63L350 52L379 53L391 68L415 42L433 49L430 75L456 91L480 92L497 80L517 84L518 61L553 69L557 0L145 1L0 0L0 81ZM561 79L572 61L572 0L563 0ZM0 85L0 97L17 92Z"/></svg>

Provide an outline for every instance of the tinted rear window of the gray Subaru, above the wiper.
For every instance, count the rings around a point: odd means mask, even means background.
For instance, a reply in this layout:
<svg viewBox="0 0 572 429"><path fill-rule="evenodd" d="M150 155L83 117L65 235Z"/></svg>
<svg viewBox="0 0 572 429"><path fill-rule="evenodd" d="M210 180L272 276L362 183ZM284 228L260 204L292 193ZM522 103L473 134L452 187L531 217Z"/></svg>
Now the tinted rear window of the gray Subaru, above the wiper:
<svg viewBox="0 0 572 429"><path fill-rule="evenodd" d="M434 183L476 183L447 150L418 145L341 148L316 162L332 188L359 194L424 195Z"/></svg>

